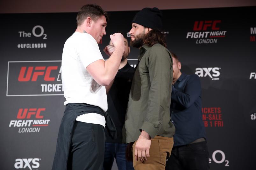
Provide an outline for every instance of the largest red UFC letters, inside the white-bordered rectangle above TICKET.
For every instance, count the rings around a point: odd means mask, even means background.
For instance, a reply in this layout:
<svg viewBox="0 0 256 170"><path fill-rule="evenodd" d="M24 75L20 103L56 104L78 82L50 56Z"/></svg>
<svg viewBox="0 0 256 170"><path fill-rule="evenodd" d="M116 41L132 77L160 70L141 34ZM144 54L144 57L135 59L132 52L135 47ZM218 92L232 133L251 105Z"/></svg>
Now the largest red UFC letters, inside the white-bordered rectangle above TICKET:
<svg viewBox="0 0 256 170"><path fill-rule="evenodd" d="M44 80L45 81L55 81L55 77L50 77L51 71L52 70L57 70L58 66L36 66L35 69L33 66L30 67L21 67L20 72L19 72L19 77L18 81L19 82L36 82L38 76L44 75ZM26 74L25 74L26 73ZM26 76L25 76L26 75Z"/></svg>

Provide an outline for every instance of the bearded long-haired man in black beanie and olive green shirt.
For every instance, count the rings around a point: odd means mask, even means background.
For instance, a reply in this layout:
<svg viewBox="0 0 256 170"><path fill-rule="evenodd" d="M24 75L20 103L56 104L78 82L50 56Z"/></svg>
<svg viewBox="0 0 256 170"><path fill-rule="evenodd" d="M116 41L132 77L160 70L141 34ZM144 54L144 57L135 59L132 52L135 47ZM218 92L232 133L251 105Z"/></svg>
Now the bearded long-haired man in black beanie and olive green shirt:
<svg viewBox="0 0 256 170"><path fill-rule="evenodd" d="M130 45L139 48L123 139L134 142L135 170L164 170L173 147L170 121L173 61L166 49L158 8L144 8L132 20Z"/></svg>

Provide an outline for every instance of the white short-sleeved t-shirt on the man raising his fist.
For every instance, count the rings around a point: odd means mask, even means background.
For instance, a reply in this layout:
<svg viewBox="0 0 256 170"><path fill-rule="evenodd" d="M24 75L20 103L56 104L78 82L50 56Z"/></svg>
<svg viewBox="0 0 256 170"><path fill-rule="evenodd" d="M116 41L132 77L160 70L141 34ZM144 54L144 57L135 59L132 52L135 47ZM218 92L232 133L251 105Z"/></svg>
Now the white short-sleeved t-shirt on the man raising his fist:
<svg viewBox="0 0 256 170"><path fill-rule="evenodd" d="M97 60L104 60L96 40L87 33L75 32L65 42L61 62L61 79L64 97L68 103L87 103L108 109L106 88L99 85L86 67ZM104 116L89 113L77 116L77 121L100 124L105 127Z"/></svg>

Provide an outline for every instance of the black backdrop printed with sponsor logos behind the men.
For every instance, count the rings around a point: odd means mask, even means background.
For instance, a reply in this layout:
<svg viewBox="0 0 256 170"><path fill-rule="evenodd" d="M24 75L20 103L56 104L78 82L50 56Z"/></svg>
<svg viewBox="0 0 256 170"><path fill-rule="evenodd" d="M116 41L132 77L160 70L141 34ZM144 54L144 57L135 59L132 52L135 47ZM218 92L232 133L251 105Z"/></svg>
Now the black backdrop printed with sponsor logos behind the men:
<svg viewBox="0 0 256 170"><path fill-rule="evenodd" d="M255 169L255 11L162 11L168 49L180 57L182 72L201 79L211 169ZM102 52L116 31L130 41L136 12L109 12ZM0 14L1 169L51 169L64 111L60 61L75 18L76 13ZM131 48L131 65L137 56Z"/></svg>

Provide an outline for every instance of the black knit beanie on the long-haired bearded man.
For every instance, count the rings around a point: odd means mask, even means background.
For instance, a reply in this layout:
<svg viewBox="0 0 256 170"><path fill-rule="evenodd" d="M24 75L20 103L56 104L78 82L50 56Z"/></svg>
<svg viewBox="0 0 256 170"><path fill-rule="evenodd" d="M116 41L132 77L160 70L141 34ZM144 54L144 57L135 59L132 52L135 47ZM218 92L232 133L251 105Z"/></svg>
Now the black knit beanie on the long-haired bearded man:
<svg viewBox="0 0 256 170"><path fill-rule="evenodd" d="M134 16L132 23L151 29L162 29L162 12L156 7L143 8Z"/></svg>

